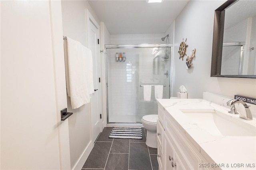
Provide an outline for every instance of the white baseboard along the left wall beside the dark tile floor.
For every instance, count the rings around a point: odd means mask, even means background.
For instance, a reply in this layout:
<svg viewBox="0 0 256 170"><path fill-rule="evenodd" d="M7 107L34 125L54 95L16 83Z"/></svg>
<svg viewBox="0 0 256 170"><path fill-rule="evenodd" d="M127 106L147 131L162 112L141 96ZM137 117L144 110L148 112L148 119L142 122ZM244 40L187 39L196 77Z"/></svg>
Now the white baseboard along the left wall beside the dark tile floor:
<svg viewBox="0 0 256 170"><path fill-rule="evenodd" d="M80 158L72 168L72 170L81 170L83 168L84 162L88 158L90 152L92 151L92 148L93 148L93 143L92 141L90 141L89 144L84 149L84 152L81 154Z"/></svg>

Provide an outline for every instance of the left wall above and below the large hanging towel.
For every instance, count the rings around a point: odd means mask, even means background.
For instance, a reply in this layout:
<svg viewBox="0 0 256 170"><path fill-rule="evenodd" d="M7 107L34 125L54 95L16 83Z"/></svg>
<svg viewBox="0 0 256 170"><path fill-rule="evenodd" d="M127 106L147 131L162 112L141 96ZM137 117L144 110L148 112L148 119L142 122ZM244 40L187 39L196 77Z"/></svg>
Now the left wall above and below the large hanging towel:
<svg viewBox="0 0 256 170"><path fill-rule="evenodd" d="M68 36L87 46L86 33L86 8L98 22L90 4L87 1L63 0L62 1L63 36ZM99 24L99 22L98 22ZM68 99L68 111L73 112L69 118L69 140L71 167L79 167L77 164L85 162L90 153L93 142L90 136L90 103L78 109L72 109L70 97ZM82 157L85 155L85 157Z"/></svg>

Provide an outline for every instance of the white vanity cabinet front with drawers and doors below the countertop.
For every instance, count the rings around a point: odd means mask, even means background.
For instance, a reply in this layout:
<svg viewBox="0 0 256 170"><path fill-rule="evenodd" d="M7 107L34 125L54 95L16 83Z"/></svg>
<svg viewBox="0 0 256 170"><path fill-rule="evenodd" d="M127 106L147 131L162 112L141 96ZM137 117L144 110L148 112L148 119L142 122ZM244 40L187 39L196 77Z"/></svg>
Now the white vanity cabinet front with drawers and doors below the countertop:
<svg viewBox="0 0 256 170"><path fill-rule="evenodd" d="M158 106L157 141L159 170L208 169L208 164L196 147L190 142L179 124L162 106Z"/></svg>

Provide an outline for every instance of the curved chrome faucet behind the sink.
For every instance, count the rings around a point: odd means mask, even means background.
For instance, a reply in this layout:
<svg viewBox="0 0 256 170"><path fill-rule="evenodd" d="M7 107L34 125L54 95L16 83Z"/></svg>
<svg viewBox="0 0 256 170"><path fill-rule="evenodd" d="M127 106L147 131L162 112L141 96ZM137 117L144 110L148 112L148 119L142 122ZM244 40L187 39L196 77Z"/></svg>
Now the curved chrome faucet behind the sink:
<svg viewBox="0 0 256 170"><path fill-rule="evenodd" d="M232 114L238 114L236 112L236 108L235 108L235 104L242 104L245 108L245 113L240 111L239 113L239 117L245 120L252 120L252 113L249 109L250 106L246 105L246 103L244 103L244 101L242 100L238 100L238 99L232 99L230 101L227 102L228 106L231 106L231 110L228 113L232 113Z"/></svg>

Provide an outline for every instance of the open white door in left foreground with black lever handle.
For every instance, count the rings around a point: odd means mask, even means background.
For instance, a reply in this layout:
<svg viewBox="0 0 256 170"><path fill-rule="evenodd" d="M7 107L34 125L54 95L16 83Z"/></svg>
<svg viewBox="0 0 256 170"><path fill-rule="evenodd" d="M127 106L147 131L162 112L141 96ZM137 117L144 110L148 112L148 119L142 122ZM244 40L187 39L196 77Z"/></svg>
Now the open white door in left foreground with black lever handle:
<svg viewBox="0 0 256 170"><path fill-rule="evenodd" d="M1 1L1 169L70 169L61 29L60 1Z"/></svg>

